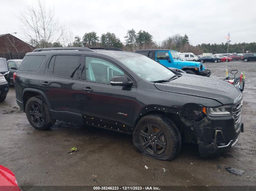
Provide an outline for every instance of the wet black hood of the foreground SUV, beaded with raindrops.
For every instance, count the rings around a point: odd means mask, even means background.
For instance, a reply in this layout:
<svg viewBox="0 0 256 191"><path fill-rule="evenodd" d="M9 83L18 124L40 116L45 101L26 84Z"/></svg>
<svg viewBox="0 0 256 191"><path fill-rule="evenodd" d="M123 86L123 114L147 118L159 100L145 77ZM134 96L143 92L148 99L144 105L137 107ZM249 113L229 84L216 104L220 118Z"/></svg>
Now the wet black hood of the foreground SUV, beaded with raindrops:
<svg viewBox="0 0 256 191"><path fill-rule="evenodd" d="M223 105L233 104L234 99L241 94L234 85L226 81L191 74L182 74L177 79L154 85L161 91L213 99Z"/></svg>

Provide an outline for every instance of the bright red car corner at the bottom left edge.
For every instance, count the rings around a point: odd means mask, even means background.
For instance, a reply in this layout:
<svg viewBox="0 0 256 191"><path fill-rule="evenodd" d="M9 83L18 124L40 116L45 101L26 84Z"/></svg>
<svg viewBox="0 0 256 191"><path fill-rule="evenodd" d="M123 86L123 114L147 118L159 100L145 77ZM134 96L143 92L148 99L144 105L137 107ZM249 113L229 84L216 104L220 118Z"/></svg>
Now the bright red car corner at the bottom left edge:
<svg viewBox="0 0 256 191"><path fill-rule="evenodd" d="M21 189L18 187L14 173L2 165L0 165L0 190L21 191Z"/></svg>

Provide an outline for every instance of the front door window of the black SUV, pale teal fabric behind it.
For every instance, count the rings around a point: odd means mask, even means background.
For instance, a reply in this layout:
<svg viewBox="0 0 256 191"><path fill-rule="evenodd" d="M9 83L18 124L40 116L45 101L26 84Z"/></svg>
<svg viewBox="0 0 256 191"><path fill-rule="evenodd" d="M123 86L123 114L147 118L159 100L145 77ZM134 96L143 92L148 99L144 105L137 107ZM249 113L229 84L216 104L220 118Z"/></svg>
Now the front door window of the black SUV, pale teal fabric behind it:
<svg viewBox="0 0 256 191"><path fill-rule="evenodd" d="M95 57L86 57L86 80L97 81L110 84L110 80L114 76L124 76L124 72L117 66L104 59Z"/></svg>

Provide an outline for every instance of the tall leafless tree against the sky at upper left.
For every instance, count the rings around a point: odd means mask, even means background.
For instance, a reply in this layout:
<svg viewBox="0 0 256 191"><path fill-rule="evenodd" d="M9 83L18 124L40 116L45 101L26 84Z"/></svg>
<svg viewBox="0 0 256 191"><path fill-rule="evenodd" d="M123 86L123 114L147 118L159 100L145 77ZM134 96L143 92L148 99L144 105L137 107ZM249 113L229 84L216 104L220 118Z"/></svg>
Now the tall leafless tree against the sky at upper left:
<svg viewBox="0 0 256 191"><path fill-rule="evenodd" d="M45 0L34 1L18 16L22 22L21 30L28 38L34 40L38 47L45 48L53 42L58 42L65 27L54 17L54 7L46 8Z"/></svg>

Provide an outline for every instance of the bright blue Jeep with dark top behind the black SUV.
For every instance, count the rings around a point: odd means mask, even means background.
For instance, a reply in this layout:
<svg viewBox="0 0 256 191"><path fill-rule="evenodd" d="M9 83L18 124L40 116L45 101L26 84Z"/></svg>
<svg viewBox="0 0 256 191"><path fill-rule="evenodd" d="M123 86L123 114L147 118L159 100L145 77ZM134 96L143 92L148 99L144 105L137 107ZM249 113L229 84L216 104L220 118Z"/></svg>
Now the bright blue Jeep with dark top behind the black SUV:
<svg viewBox="0 0 256 191"><path fill-rule="evenodd" d="M176 50L145 49L136 50L135 53L148 56L168 68L178 68L184 70L188 74L206 77L211 75L211 71L206 70L202 63L182 60Z"/></svg>

